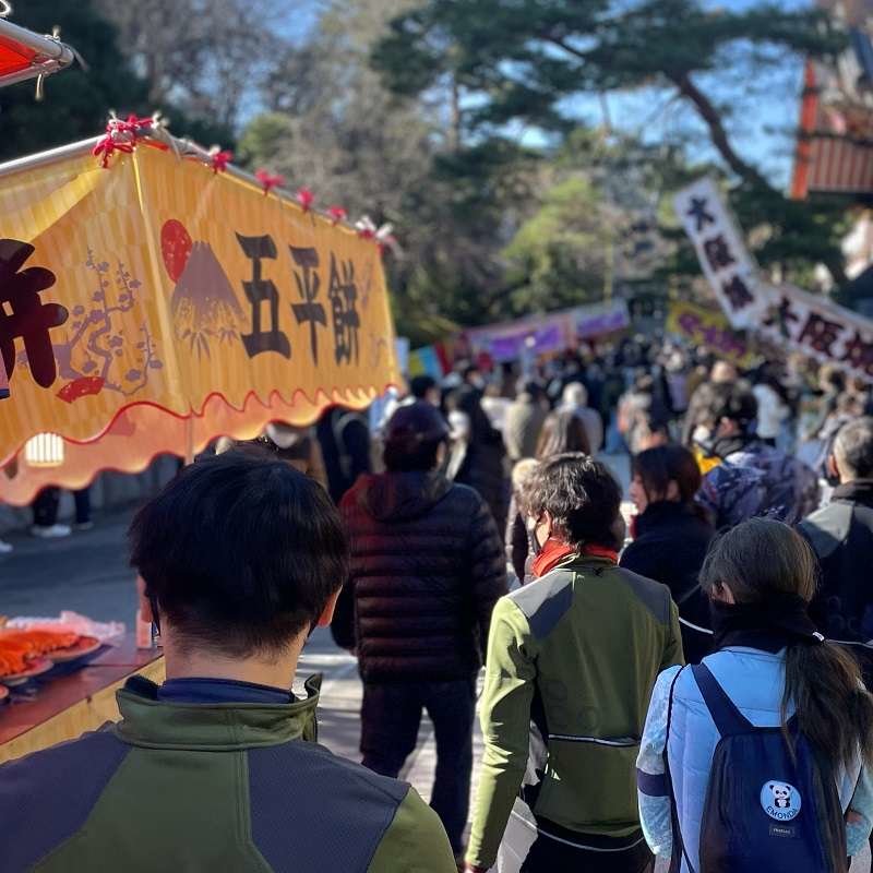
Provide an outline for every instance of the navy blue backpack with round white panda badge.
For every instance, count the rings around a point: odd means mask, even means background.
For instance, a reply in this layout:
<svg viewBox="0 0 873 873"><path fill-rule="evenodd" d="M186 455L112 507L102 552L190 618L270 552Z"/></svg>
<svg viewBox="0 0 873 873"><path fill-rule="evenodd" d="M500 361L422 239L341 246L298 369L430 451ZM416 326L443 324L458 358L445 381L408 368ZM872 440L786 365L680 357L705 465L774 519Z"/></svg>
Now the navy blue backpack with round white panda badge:
<svg viewBox="0 0 873 873"><path fill-rule="evenodd" d="M846 826L830 764L800 733L794 718L788 722L792 755L781 728L756 728L707 667L699 663L690 669L720 739L706 789L699 870L682 842L665 746L673 809L670 872L679 872L683 858L692 873L846 871ZM675 679L670 689L668 743Z"/></svg>

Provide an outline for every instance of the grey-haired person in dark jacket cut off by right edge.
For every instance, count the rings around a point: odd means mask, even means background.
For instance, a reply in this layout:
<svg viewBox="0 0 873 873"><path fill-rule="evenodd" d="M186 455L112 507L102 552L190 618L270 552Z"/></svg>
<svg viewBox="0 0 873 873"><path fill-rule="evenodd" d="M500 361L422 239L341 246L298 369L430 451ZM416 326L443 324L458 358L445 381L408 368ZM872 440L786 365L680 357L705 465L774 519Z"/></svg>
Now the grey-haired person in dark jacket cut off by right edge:
<svg viewBox="0 0 873 873"><path fill-rule="evenodd" d="M821 565L812 617L830 639L852 643L873 680L873 653L858 645L873 639L873 418L844 424L827 459L839 485L830 503L800 523Z"/></svg>

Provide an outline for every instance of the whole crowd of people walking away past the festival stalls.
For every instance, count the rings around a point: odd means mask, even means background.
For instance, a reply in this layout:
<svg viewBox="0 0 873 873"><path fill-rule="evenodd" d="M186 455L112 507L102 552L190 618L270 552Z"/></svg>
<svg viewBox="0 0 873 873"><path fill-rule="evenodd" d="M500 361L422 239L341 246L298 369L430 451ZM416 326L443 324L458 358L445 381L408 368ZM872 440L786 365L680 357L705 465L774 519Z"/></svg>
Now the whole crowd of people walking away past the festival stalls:
<svg viewBox="0 0 873 873"><path fill-rule="evenodd" d="M223 441L131 528L167 681L0 768L0 870L848 870L873 829L870 411L836 369L630 339L417 376L372 432L336 408ZM318 683L290 687L327 625L361 765L315 742ZM424 711L429 806L397 781Z"/></svg>

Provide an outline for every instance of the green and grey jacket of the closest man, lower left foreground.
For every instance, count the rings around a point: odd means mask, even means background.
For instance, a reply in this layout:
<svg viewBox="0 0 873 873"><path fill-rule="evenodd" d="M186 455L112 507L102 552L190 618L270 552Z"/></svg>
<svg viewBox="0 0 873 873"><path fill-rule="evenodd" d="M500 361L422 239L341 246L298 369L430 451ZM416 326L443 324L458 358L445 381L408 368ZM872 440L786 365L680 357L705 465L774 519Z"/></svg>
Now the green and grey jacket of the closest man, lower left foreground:
<svg viewBox="0 0 873 873"><path fill-rule="evenodd" d="M456 873L408 785L314 742L307 691L167 703L129 680L118 725L0 767L0 871Z"/></svg>

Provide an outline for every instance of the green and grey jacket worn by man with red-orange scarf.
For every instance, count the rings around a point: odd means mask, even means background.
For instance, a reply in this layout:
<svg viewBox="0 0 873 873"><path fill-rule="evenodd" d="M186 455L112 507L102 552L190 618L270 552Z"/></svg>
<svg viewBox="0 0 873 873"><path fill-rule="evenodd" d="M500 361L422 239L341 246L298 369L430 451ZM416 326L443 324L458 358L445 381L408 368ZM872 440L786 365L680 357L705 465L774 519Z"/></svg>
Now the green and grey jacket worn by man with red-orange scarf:
<svg viewBox="0 0 873 873"><path fill-rule="evenodd" d="M576 834L639 829L636 756L658 673L682 662L670 590L605 558L574 555L501 598L480 718L485 757L467 860L493 864L528 763L547 743L534 806Z"/></svg>

